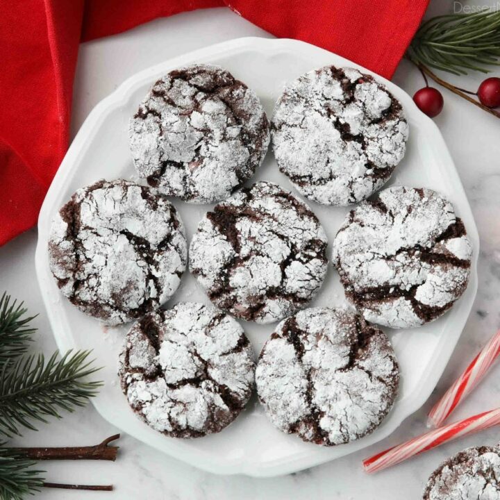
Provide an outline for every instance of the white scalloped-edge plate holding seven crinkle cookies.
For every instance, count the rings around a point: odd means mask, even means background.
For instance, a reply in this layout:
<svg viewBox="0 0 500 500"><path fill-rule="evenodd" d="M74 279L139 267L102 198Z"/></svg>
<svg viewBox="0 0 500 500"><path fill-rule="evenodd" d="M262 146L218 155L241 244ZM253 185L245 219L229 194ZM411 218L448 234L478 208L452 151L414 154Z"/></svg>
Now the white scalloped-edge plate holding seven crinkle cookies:
<svg viewBox="0 0 500 500"><path fill-rule="evenodd" d="M47 239L53 215L76 189L100 178L111 180L134 176L127 142L129 117L135 113L147 90L159 76L176 67L201 62L227 68L256 90L269 117L285 83L310 69L333 64L358 67L367 72L340 56L303 42L242 38L168 60L129 78L90 113L54 178L38 224L38 281L59 349L94 349L96 365L104 367L99 377L103 378L105 385L92 402L105 419L137 439L209 472L250 476L287 474L374 444L392 433L403 419L426 401L447 365L472 308L477 289L478 234L460 178L437 126L420 113L406 92L378 77L403 103L410 122L406 156L389 184L427 187L442 192L453 201L474 247L469 286L451 312L421 328L388 332L402 375L394 409L372 435L329 449L306 444L298 437L277 431L265 417L255 395L249 408L217 435L178 440L153 431L133 414L118 383L117 355L127 326L107 330L96 320L80 313L60 295L49 271ZM257 179L276 181L292 190L288 179L278 172L270 152L252 181ZM212 206L193 206L178 200L174 203L181 213L190 240L201 216ZM347 209L320 206L311 201L308 204L321 220L331 242ZM329 253L328 248L328 257ZM181 300L208 303L188 272L183 276L181 287L171 303ZM326 282L313 305L334 306L341 303L344 303L342 286L338 275L329 269ZM274 328L273 325L258 326L247 322L243 322L243 326L256 353Z"/></svg>

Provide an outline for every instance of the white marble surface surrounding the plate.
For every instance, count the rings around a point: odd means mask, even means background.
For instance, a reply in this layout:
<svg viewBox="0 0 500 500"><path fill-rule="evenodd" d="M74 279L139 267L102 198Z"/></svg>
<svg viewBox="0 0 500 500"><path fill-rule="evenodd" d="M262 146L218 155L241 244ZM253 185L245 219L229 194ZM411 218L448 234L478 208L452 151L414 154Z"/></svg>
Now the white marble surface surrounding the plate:
<svg viewBox="0 0 500 500"><path fill-rule="evenodd" d="M444 3L449 7L449 3L435 0L431 12L439 12ZM83 44L76 73L73 133L76 133L95 104L131 74L166 58L241 36L269 35L228 9L215 9L158 19L128 33ZM459 78L456 83L476 89L481 79L481 75L475 74ZM404 61L397 69L394 82L410 94L423 86L419 72ZM200 472L123 435L119 440L121 449L116 462L42 464L47 469L48 481L113 483L114 492L44 490L36 498L416 499L420 497L426 478L442 459L467 446L498 442L500 430L493 428L447 444L374 476L367 476L361 467L363 458L425 430L426 412L432 403L500 326L500 122L449 92L444 92L444 99L445 108L436 123L456 162L481 236L479 291L451 362L433 396L419 412L408 418L391 437L371 449L298 474L269 479L216 476ZM0 290L6 289L15 297L24 299L33 313L40 313L34 322L39 328L35 347L50 353L56 349L56 345L35 281L33 256L36 238L36 231L31 230L0 248ZM500 406L499 375L500 365L492 369L487 380L460 407L455 417L465 417ZM39 427L38 433L26 432L24 437L15 440L15 444L96 444L117 432L116 428L97 415L92 406L65 415L60 422Z"/></svg>

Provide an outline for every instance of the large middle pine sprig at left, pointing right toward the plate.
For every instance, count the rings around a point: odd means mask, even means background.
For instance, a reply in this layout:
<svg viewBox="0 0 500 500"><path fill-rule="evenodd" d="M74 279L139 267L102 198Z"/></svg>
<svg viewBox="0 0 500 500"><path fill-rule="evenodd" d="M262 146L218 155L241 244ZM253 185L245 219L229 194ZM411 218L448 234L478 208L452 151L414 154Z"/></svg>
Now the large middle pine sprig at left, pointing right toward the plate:
<svg viewBox="0 0 500 500"><path fill-rule="evenodd" d="M68 351L58 360L54 353L23 356L0 372L0 434L21 435L20 426L36 430L33 420L47 422L45 417L60 418L60 410L72 412L84 406L97 394L102 382L83 381L99 368L88 361L90 351Z"/></svg>

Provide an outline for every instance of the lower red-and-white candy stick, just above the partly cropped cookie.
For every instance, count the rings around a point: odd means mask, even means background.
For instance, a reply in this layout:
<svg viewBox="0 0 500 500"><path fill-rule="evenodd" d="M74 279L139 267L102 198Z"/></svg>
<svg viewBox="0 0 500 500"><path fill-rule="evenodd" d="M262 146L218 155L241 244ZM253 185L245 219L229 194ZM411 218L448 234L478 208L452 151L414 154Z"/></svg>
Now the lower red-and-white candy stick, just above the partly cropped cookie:
<svg viewBox="0 0 500 500"><path fill-rule="evenodd" d="M458 439L458 437L483 431L485 428L498 424L500 424L500 408L479 413L478 415L474 415L474 417L442 426L381 453L377 453L371 458L364 460L363 467L365 467L365 472L378 472L399 462L403 462L403 460L408 460L408 458L418 453L438 447L440 444Z"/></svg>

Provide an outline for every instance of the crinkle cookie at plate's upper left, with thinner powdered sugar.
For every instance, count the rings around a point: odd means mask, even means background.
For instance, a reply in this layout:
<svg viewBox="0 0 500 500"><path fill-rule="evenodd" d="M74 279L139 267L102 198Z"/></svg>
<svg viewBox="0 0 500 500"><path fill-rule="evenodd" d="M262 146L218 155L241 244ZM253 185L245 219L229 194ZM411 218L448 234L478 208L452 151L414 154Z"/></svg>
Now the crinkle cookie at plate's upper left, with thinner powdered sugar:
<svg viewBox="0 0 500 500"><path fill-rule="evenodd" d="M226 199L262 163L269 124L258 97L225 69L193 65L160 78L131 119L138 174L194 203Z"/></svg>

